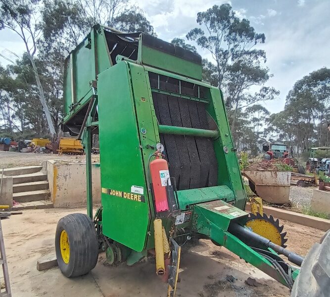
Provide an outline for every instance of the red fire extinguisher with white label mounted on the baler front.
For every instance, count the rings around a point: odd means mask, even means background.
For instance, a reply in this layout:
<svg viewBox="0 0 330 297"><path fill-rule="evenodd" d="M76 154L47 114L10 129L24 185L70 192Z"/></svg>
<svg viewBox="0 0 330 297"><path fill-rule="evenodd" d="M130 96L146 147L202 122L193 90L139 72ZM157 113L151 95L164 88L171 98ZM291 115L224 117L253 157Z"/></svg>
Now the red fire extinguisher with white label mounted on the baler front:
<svg viewBox="0 0 330 297"><path fill-rule="evenodd" d="M165 159L159 158L150 162L150 176L155 198L156 212L169 210L166 194L166 186L171 185L170 173Z"/></svg>

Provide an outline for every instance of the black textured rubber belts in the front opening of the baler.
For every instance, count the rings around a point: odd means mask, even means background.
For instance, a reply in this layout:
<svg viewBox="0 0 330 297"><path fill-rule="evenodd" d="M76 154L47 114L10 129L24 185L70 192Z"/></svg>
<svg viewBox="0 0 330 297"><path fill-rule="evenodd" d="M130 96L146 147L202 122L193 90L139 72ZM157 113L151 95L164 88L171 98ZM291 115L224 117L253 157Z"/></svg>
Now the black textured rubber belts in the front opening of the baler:
<svg viewBox="0 0 330 297"><path fill-rule="evenodd" d="M150 85L156 87L157 81L150 80ZM176 85L160 82L160 89L177 92L176 88ZM183 92L187 95L193 92L185 89ZM155 92L152 98L160 124L209 129L205 103ZM160 140L165 147L170 175L175 177L178 190L217 185L218 164L211 139L161 134Z"/></svg>

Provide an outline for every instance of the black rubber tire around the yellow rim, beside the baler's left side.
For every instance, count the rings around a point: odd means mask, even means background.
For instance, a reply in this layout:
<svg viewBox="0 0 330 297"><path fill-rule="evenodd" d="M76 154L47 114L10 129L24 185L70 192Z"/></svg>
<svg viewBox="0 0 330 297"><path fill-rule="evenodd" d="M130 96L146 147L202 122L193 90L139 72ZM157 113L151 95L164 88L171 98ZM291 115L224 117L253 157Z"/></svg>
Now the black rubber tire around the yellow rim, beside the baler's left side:
<svg viewBox="0 0 330 297"><path fill-rule="evenodd" d="M61 232L65 230L70 245L69 263L63 261L60 250ZM73 213L61 218L55 234L55 251L58 266L66 277L89 273L97 263L98 242L92 219L83 213Z"/></svg>

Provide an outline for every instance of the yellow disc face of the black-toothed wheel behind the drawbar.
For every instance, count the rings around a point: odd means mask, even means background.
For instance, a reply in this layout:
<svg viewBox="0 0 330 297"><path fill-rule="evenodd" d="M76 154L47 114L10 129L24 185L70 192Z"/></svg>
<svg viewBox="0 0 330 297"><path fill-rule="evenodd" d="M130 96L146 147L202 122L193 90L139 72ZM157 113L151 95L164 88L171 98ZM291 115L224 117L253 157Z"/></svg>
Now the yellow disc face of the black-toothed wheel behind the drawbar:
<svg viewBox="0 0 330 297"><path fill-rule="evenodd" d="M274 244L282 245L281 233L271 222L263 219L254 219L248 221L245 226L250 227L254 233L269 239Z"/></svg>

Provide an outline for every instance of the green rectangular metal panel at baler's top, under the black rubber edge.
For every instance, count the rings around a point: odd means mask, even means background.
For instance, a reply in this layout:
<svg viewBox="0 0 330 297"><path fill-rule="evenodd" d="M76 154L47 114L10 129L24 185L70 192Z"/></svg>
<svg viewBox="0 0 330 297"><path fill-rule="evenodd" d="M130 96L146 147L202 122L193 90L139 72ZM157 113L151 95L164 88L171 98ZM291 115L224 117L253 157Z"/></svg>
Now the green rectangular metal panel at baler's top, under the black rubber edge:
<svg viewBox="0 0 330 297"><path fill-rule="evenodd" d="M197 63L143 45L139 47L139 51L139 59L142 64L178 73L193 79L202 79L202 66Z"/></svg>

